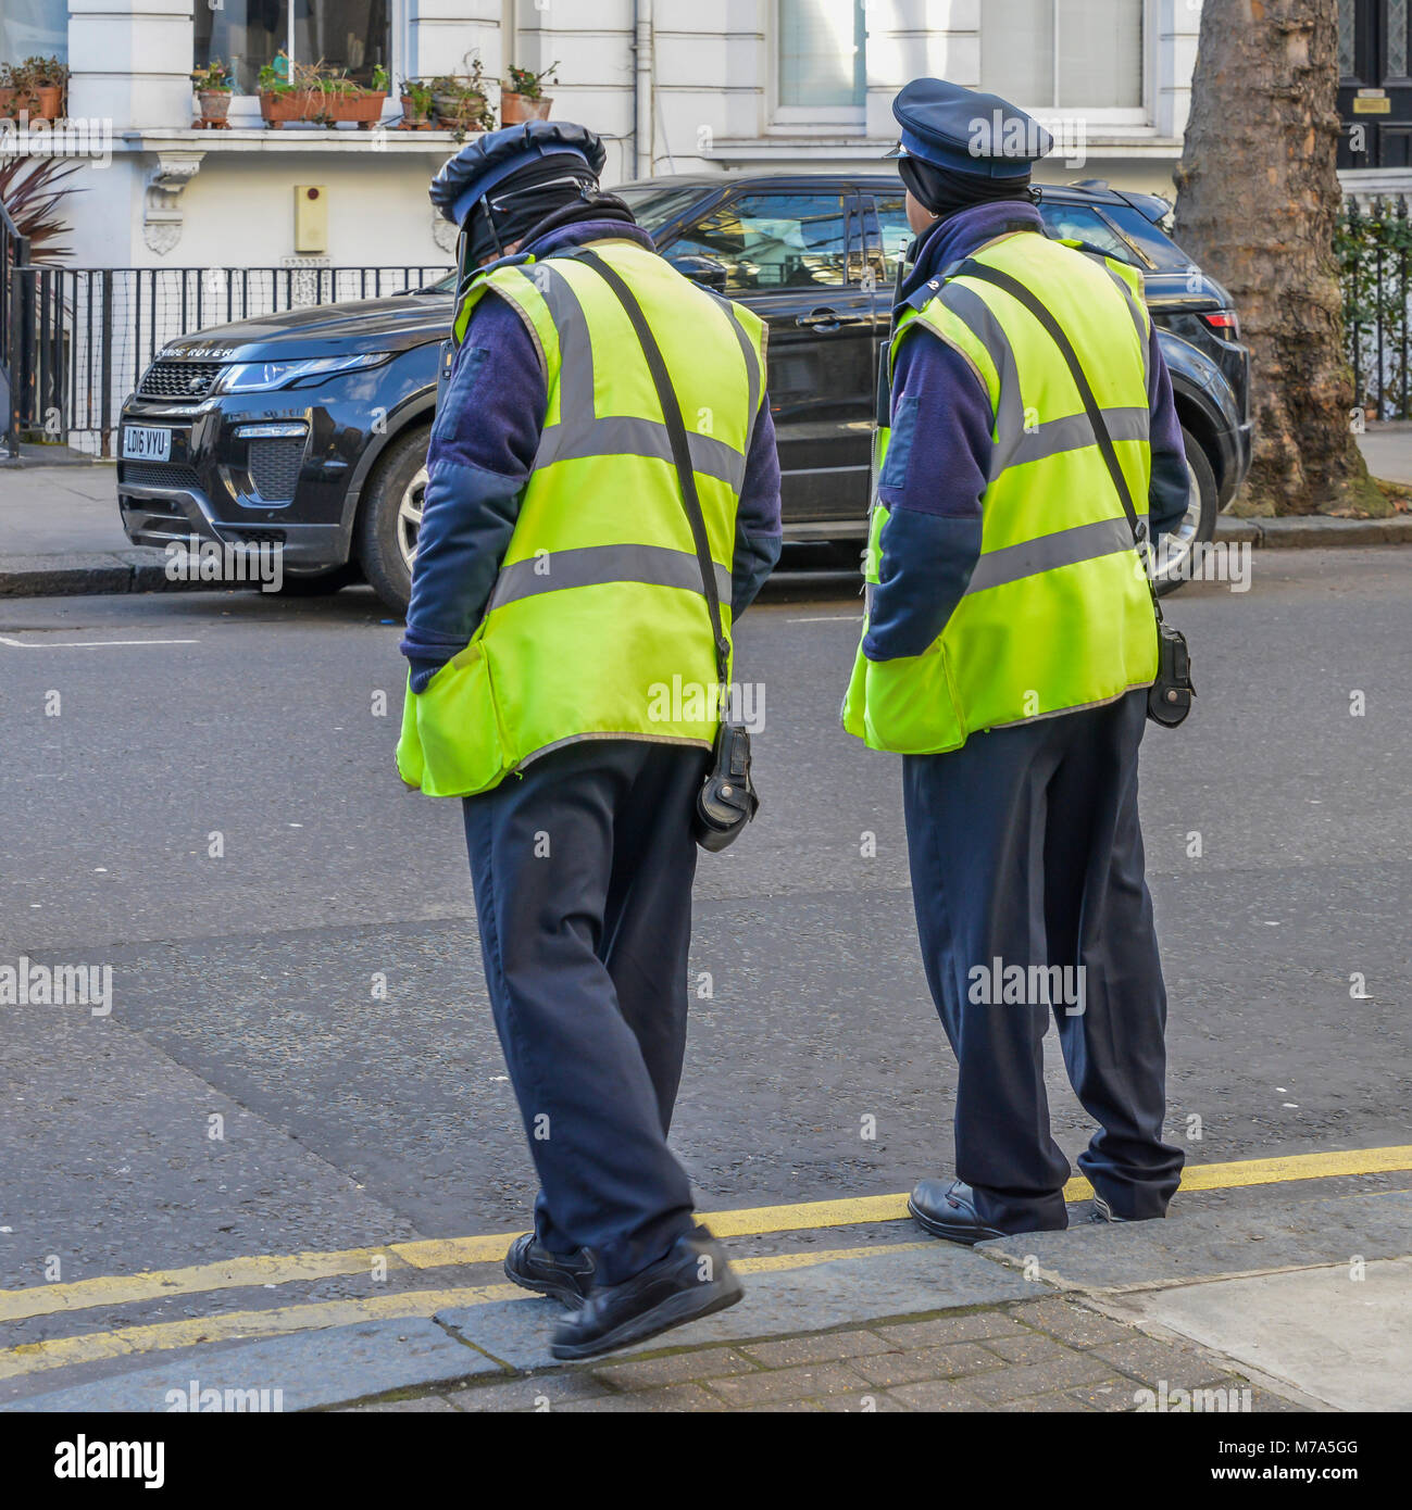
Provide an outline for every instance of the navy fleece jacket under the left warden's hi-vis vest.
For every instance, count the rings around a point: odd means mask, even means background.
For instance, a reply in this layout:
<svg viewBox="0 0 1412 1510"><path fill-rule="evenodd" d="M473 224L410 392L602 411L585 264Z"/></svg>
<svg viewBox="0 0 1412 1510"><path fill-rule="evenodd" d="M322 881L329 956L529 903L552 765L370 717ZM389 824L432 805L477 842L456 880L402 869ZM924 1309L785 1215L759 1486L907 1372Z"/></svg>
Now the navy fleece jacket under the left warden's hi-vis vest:
<svg viewBox="0 0 1412 1510"><path fill-rule="evenodd" d="M636 225L581 220L521 251L542 258L604 237L627 237L655 249ZM412 601L402 640L402 654L412 663L412 692L424 690L467 646L485 615L515 533L547 408L544 368L524 322L504 299L482 299L456 352L427 450ZM779 548L779 458L769 394L763 394L735 516L734 618L755 599Z"/></svg>

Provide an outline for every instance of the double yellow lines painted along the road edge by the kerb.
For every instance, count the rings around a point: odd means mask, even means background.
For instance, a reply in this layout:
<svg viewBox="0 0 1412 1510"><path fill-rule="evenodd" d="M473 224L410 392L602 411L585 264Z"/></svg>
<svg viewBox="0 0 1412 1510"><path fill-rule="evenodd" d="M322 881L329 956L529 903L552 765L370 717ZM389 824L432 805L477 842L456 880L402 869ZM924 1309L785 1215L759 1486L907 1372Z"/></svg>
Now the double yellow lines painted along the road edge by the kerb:
<svg viewBox="0 0 1412 1510"><path fill-rule="evenodd" d="M1225 1190L1270 1185L1297 1179L1327 1179L1338 1175L1374 1175L1412 1169L1412 1145L1403 1148L1349 1149L1335 1154L1296 1154L1287 1158L1252 1158L1228 1164L1193 1164L1182 1173L1182 1190ZM1071 1179L1066 1200L1084 1200L1093 1190L1086 1179ZM717 1237L758 1237L775 1232L805 1232L825 1228L894 1222L906 1216L906 1196L861 1196L846 1200L812 1200L784 1206L752 1206L716 1211L702 1220ZM213 1294L220 1290L287 1285L298 1280L375 1274L385 1268L433 1270L492 1264L504 1258L518 1234L429 1238L390 1243L385 1247L350 1247L329 1253L285 1253L233 1258L189 1268L150 1270L80 1279L71 1284L35 1285L0 1291L0 1321L18 1321L92 1306L121 1306L169 1296ZM776 1253L735 1261L745 1273L805 1268L843 1258L896 1253L918 1244L886 1244L829 1249L806 1253ZM408 1290L364 1300L329 1300L275 1306L264 1311L233 1311L213 1317L189 1317L121 1327L113 1332L24 1342L0 1351L0 1379L72 1364L97 1362L127 1353L162 1351L233 1338L278 1336L316 1327L346 1326L384 1317L426 1317L450 1306L486 1305L521 1296L513 1285L491 1284L444 1290Z"/></svg>

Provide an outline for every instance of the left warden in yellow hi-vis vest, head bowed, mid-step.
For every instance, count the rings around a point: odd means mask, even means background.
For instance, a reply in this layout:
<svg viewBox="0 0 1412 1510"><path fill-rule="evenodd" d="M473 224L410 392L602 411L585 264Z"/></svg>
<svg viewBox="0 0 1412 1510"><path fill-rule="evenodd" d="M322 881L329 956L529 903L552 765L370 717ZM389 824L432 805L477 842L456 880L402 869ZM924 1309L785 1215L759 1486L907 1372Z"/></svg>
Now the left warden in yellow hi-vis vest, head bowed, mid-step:
<svg viewBox="0 0 1412 1510"><path fill-rule="evenodd" d="M720 661L781 541L763 325L657 255L600 192L603 162L584 127L533 121L432 186L473 273L427 453L397 746L408 784L465 799L541 1184L506 1273L572 1308L559 1357L741 1294L666 1136Z"/></svg>

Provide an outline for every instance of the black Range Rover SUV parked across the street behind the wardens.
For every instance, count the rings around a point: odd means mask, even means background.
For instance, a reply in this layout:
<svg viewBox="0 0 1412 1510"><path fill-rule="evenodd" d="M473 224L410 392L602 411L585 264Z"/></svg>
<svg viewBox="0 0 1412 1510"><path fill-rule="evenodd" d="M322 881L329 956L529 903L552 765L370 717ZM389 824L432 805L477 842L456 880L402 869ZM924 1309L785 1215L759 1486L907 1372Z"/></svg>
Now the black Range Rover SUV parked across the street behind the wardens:
<svg viewBox="0 0 1412 1510"><path fill-rule="evenodd" d="M613 192L684 273L769 323L787 541L862 536L877 361L911 240L897 177L671 177ZM1175 586L1181 559L1211 538L1250 464L1237 314L1163 230L1166 201L1086 183L1044 186L1039 208L1051 236L1143 273L1192 479L1161 563ZM169 343L122 409L118 501L128 539L278 542L288 589L332 590L362 572L403 612L453 288L449 276L412 294L291 310Z"/></svg>

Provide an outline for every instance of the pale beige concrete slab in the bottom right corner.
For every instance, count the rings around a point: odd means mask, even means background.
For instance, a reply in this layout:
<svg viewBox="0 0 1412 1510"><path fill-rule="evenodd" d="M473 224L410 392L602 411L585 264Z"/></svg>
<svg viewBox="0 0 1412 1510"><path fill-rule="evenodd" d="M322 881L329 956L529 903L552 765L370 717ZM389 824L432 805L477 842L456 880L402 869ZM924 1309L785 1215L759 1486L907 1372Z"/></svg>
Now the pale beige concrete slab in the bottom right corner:
<svg viewBox="0 0 1412 1510"><path fill-rule="evenodd" d="M1412 1258L1182 1285L1122 1309L1338 1410L1412 1410Z"/></svg>

